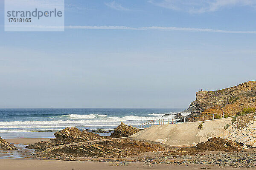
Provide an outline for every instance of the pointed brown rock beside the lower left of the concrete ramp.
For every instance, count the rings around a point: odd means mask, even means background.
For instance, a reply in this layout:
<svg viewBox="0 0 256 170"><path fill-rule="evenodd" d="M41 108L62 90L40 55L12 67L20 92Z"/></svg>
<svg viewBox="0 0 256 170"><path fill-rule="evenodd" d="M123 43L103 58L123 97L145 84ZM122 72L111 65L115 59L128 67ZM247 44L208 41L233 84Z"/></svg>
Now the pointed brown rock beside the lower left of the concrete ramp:
<svg viewBox="0 0 256 170"><path fill-rule="evenodd" d="M111 137L112 138L128 137L139 131L140 129L137 129L133 126L125 125L125 123L121 122L121 124L114 129L114 132L111 134Z"/></svg>

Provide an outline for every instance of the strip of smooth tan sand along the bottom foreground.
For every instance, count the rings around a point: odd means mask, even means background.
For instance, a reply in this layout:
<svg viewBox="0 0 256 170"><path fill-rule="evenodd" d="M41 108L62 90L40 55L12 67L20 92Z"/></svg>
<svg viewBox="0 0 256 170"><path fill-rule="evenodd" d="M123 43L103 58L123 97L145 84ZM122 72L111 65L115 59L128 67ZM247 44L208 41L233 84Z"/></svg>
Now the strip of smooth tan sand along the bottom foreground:
<svg viewBox="0 0 256 170"><path fill-rule="evenodd" d="M113 163L89 162L89 161L58 161L58 160L13 160L0 159L0 170L231 170L233 168L219 168L206 165L166 165L154 164L143 165L143 162L131 162L128 166L115 166ZM248 170L250 168L239 168L239 170Z"/></svg>

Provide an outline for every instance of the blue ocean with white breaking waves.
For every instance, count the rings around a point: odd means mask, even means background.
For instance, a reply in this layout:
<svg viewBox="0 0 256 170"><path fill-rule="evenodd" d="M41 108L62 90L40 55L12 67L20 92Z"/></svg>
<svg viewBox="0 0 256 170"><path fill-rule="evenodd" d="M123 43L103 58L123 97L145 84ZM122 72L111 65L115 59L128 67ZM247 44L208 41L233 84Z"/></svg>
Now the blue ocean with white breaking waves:
<svg viewBox="0 0 256 170"><path fill-rule="evenodd" d="M148 120L173 119L184 108L170 109L0 109L2 138L48 138L65 127L113 130L120 122L138 126ZM162 118L163 119L163 118Z"/></svg>

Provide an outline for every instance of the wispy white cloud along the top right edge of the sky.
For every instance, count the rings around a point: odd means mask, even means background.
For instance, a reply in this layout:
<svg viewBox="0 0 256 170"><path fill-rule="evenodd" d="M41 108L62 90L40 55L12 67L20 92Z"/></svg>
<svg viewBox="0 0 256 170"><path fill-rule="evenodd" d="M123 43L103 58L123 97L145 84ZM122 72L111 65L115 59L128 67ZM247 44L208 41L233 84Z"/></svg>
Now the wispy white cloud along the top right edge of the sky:
<svg viewBox="0 0 256 170"><path fill-rule="evenodd" d="M189 13L218 11L232 6L256 7L256 0L148 0L156 6Z"/></svg>

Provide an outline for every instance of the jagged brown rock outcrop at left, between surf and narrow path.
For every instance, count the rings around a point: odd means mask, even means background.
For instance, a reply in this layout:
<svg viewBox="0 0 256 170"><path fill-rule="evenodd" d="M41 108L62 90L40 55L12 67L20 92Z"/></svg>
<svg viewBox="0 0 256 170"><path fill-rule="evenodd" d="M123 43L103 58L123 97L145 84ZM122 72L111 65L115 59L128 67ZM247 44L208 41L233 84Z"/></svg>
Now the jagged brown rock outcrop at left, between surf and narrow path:
<svg viewBox="0 0 256 170"><path fill-rule="evenodd" d="M86 130L80 131L76 127L67 127L54 133L54 136L55 139L50 139L49 141L42 141L35 144L29 144L26 147L30 149L45 149L51 146L109 138L107 136L99 136L96 133L88 132Z"/></svg>

